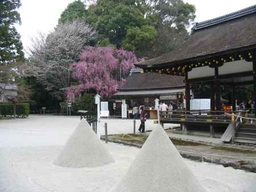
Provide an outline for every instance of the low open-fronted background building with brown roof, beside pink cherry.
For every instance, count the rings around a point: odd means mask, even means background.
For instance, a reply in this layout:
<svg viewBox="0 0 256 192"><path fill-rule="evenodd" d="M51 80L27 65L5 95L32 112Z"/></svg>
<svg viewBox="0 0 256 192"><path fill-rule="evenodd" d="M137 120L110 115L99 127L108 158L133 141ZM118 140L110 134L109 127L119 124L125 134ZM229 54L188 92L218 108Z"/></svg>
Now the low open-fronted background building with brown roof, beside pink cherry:
<svg viewBox="0 0 256 192"><path fill-rule="evenodd" d="M116 114L121 110L122 99L126 99L127 110L131 113L133 106L144 105L150 118L156 119L155 99L170 105L176 102L179 108L183 108L183 96L185 91L184 77L169 76L160 73L141 73L133 70L126 78L118 92L112 98L116 103ZM119 109L119 110L118 110ZM155 110L155 111L154 111ZM119 112L120 113L120 112Z"/></svg>

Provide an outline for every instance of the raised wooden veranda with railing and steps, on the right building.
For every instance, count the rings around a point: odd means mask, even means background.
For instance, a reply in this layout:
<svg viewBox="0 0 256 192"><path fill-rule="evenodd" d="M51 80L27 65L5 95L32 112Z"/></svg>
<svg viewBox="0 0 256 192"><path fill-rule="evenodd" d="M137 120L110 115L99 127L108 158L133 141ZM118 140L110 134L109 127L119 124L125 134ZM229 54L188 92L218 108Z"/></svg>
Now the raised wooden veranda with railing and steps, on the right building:
<svg viewBox="0 0 256 192"><path fill-rule="evenodd" d="M247 143L256 143L256 129L254 114L248 109L244 111L211 111L211 110L191 110L191 111L160 111L160 124L174 123L180 124L183 134L187 134L189 126L204 126L209 129L209 136L214 137L214 128L224 127L224 134L221 140L224 142L243 143L247 138ZM229 128L231 129L231 132Z"/></svg>

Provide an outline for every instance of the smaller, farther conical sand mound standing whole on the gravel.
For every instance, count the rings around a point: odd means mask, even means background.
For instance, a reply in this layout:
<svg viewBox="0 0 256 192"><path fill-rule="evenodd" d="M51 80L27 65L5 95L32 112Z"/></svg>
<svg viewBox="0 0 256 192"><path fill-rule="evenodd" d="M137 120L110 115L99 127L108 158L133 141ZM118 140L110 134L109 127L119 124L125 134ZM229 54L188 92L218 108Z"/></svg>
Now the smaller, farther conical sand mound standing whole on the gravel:
<svg viewBox="0 0 256 192"><path fill-rule="evenodd" d="M105 145L98 139L86 120L69 137L55 165L68 168L97 167L114 162Z"/></svg>

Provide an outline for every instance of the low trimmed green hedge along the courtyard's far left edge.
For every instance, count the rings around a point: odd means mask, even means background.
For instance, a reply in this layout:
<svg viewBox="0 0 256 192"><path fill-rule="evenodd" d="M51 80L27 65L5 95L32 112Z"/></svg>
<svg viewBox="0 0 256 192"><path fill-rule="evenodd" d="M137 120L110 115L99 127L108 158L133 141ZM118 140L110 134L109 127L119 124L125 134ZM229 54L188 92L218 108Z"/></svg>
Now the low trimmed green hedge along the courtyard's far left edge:
<svg viewBox="0 0 256 192"><path fill-rule="evenodd" d="M28 103L16 104L16 117L26 118L30 114L30 105ZM1 117L13 117L14 104L12 103L0 103L0 116Z"/></svg>

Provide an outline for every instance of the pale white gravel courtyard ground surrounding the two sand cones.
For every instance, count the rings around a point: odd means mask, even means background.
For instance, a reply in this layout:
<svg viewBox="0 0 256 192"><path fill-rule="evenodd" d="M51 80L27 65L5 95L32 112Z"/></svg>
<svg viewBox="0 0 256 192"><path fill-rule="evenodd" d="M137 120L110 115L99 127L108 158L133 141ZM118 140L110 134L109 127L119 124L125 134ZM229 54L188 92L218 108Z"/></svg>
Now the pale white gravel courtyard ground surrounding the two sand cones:
<svg viewBox="0 0 256 192"><path fill-rule="evenodd" d="M109 134L133 132L133 120L103 119L102 135L105 122ZM78 123L79 117L65 116L0 120L0 191L112 191L140 149L109 143L107 147L115 158L113 164L79 169L53 165ZM148 129L154 127L150 121L147 124ZM208 191L256 191L255 173L205 162L185 162Z"/></svg>

